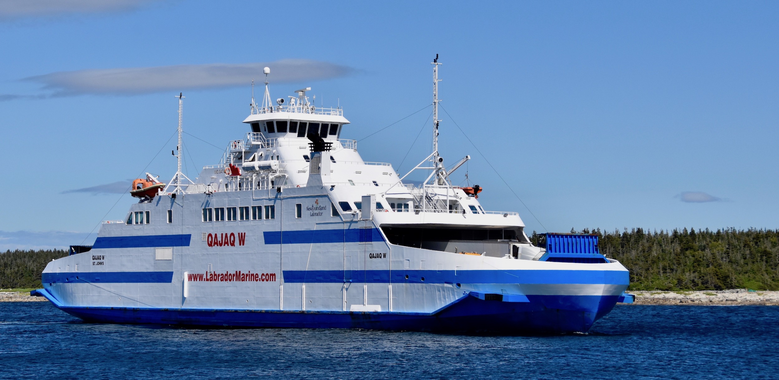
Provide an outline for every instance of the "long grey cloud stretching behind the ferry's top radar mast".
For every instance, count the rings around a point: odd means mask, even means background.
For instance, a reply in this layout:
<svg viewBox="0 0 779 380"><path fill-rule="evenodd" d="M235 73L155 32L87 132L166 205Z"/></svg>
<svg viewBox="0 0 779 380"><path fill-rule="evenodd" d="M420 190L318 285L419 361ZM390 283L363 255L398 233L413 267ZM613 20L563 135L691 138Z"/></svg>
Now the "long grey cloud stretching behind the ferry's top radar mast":
<svg viewBox="0 0 779 380"><path fill-rule="evenodd" d="M2 0L0 0L2 1ZM212 63L126 69L88 69L51 72L23 80L43 84L51 96L80 94L132 95L231 86L247 86L252 79L264 79L264 67L270 67L273 83L294 83L350 75L357 70L330 62L308 59L283 59L276 62L245 64ZM2 95L11 100L14 95Z"/></svg>

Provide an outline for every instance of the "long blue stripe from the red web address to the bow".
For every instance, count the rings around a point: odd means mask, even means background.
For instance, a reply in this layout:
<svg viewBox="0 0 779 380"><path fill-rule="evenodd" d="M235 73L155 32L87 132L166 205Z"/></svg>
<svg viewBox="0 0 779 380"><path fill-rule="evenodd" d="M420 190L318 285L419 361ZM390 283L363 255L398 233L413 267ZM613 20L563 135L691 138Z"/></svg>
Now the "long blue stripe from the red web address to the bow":
<svg viewBox="0 0 779 380"><path fill-rule="evenodd" d="M622 270L284 270L286 283L597 283L627 285ZM406 279L408 275L408 279ZM424 280L423 280L424 278Z"/></svg>

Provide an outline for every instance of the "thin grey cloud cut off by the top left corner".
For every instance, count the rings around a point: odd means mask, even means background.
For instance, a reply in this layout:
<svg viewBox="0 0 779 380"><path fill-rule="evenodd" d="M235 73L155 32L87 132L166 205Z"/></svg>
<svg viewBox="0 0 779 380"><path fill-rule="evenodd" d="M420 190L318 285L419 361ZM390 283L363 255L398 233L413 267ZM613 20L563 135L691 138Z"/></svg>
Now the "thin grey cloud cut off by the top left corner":
<svg viewBox="0 0 779 380"><path fill-rule="evenodd" d="M152 0L0 0L0 19L136 9Z"/></svg>

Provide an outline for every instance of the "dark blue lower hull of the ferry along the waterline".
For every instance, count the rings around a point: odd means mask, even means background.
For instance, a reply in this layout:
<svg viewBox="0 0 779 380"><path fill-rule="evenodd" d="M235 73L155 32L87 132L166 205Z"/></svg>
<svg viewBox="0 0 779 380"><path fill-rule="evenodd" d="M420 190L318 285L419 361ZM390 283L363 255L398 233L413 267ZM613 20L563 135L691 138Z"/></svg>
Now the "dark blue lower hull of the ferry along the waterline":
<svg viewBox="0 0 779 380"><path fill-rule="evenodd" d="M47 294L44 294L47 295ZM463 297L435 313L69 307L87 322L262 328L385 329L548 334L587 332L617 296L528 296L527 302Z"/></svg>

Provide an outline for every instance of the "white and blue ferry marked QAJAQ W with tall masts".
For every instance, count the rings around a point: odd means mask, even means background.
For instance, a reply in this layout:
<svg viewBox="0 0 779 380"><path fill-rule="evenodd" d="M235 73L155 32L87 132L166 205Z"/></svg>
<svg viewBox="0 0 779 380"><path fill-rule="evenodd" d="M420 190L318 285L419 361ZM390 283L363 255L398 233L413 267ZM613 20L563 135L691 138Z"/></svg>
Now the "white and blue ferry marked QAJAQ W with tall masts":
<svg viewBox="0 0 779 380"><path fill-rule="evenodd" d="M364 161L341 139L343 108L315 107L310 87L273 102L265 68L263 102L252 95L248 132L220 164L192 181L179 149L171 181L133 181L125 218L49 262L32 294L86 322L587 332L632 301L628 270L594 235L536 246L518 213L481 206L484 188L453 185L471 157L446 166L439 154L439 65L432 153L404 175ZM408 181L414 171L426 180Z"/></svg>

